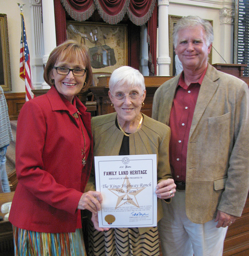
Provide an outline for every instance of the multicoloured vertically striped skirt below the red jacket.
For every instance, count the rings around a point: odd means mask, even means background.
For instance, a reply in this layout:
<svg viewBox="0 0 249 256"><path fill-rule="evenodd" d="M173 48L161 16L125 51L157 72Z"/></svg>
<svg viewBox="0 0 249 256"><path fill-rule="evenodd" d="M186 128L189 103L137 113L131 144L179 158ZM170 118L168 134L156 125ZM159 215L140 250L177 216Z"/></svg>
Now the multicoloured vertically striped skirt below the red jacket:
<svg viewBox="0 0 249 256"><path fill-rule="evenodd" d="M15 256L86 256L82 230L41 233L13 226Z"/></svg>

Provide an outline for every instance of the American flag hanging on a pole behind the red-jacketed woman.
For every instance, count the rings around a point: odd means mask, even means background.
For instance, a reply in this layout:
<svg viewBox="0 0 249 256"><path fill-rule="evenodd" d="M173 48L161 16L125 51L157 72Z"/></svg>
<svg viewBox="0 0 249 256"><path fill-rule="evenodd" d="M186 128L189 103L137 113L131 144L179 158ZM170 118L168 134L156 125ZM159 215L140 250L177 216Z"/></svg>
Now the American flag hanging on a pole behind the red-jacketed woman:
<svg viewBox="0 0 249 256"><path fill-rule="evenodd" d="M31 79L30 57L26 40L26 30L23 13L21 12L21 45L20 45L20 78L25 81L26 101L34 98L31 90L34 90Z"/></svg>

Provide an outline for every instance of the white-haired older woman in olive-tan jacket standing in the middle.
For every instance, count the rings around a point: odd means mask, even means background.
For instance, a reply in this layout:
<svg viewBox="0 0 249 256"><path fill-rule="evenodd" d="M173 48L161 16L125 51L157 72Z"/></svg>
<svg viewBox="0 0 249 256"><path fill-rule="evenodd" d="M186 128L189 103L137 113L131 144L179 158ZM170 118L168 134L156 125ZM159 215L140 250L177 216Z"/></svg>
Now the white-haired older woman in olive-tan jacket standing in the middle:
<svg viewBox="0 0 249 256"><path fill-rule="evenodd" d="M140 113L146 95L144 78L131 67L116 69L109 82L108 93L116 113L92 118L94 156L157 155L158 220L161 204L171 201L175 184L169 166L170 129ZM90 256L159 256L158 231L152 228L99 228L93 214L89 243ZM97 230L96 230L97 229ZM102 231L99 233L99 231Z"/></svg>

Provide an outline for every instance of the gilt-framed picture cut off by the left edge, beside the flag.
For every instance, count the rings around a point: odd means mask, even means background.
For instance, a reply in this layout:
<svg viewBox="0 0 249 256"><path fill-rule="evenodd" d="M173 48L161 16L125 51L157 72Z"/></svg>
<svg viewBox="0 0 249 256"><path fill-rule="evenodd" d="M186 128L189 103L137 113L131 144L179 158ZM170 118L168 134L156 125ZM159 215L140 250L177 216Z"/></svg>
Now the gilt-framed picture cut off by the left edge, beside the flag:
<svg viewBox="0 0 249 256"><path fill-rule="evenodd" d="M11 91L11 73L8 46L7 15L0 13L0 86L3 91Z"/></svg>

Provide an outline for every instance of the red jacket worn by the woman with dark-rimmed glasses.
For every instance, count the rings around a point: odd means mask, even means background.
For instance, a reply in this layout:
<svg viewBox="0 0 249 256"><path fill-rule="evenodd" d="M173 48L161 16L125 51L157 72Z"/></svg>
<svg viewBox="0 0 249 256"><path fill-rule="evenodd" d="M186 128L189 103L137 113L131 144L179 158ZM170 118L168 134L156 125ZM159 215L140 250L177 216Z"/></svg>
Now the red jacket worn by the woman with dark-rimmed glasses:
<svg viewBox="0 0 249 256"><path fill-rule="evenodd" d="M16 131L15 190L9 221L36 232L75 232L77 206L93 160L91 116L76 97L76 107L91 139L82 180L81 128L54 86L22 107ZM71 113L70 113L71 112Z"/></svg>

